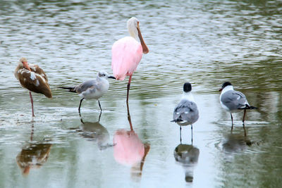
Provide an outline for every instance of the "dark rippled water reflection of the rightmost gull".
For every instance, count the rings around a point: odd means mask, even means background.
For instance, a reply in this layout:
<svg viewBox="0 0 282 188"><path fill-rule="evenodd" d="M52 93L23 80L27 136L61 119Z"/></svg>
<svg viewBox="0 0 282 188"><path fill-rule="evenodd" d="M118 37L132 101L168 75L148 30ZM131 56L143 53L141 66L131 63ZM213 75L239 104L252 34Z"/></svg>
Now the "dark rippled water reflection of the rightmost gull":
<svg viewBox="0 0 282 188"><path fill-rule="evenodd" d="M227 152L238 152L243 151L247 146L252 146L252 142L247 138L246 131L244 134L227 134L226 141L223 143L223 149Z"/></svg>

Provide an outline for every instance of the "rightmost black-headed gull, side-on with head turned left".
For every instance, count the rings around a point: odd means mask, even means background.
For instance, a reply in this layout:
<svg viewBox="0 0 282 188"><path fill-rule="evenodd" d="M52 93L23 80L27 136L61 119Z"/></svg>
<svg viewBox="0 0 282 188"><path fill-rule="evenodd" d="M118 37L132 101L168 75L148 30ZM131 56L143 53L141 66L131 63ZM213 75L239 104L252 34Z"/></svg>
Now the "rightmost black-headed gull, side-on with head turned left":
<svg viewBox="0 0 282 188"><path fill-rule="evenodd" d="M245 130L245 115L247 109L257 109L255 106L250 106L250 104L247 102L247 98L245 94L235 91L233 89L233 85L231 82L224 82L221 86L221 89L219 89L219 92L221 92L221 95L219 96L219 101L224 108L224 110L230 112L231 120L232 120L232 127L231 130L233 130L233 116L232 113L238 113L239 111L244 110L243 115L243 127Z"/></svg>

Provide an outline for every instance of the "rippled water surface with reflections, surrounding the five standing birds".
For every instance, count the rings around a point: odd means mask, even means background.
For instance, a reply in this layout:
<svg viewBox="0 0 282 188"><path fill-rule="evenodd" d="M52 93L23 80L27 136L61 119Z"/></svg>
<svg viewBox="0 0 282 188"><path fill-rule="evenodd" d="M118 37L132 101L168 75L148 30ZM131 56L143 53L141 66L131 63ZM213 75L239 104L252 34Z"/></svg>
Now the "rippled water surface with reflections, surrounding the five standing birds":
<svg viewBox="0 0 282 188"><path fill-rule="evenodd" d="M0 187L279 187L282 183L281 1L1 1ZM136 16L149 47L126 84L82 103L58 87L111 72L111 45ZM30 98L13 75L40 65L53 99ZM252 106L231 118L225 81ZM184 82L200 111L171 123ZM125 140L125 142L121 142ZM182 157L181 157L182 156Z"/></svg>

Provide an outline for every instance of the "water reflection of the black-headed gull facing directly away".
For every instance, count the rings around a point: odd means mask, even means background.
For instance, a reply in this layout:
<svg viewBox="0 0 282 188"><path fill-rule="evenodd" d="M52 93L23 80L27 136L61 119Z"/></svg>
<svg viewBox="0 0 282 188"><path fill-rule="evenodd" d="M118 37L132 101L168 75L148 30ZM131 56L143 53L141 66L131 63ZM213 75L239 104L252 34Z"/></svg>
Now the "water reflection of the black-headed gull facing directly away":
<svg viewBox="0 0 282 188"><path fill-rule="evenodd" d="M181 140L181 138L180 138ZM197 165L200 150L191 144L180 144L174 149L174 158L185 170L185 181L193 181L194 168Z"/></svg>

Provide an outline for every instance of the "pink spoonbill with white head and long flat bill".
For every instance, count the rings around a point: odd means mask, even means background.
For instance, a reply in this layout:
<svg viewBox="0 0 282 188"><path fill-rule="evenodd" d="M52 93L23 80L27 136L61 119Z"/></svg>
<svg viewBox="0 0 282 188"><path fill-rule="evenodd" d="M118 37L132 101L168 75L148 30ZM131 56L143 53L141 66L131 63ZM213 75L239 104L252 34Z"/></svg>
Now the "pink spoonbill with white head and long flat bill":
<svg viewBox="0 0 282 188"><path fill-rule="evenodd" d="M141 35L139 20L135 17L130 18L127 27L130 37L119 39L111 48L111 69L116 80L124 80L126 76L129 76L129 92L131 77L142 58L142 53L147 54L149 49ZM140 42L137 42L137 37ZM128 103L128 92L126 103Z"/></svg>

